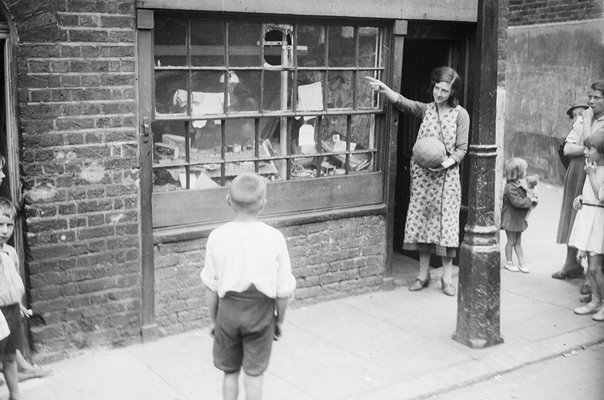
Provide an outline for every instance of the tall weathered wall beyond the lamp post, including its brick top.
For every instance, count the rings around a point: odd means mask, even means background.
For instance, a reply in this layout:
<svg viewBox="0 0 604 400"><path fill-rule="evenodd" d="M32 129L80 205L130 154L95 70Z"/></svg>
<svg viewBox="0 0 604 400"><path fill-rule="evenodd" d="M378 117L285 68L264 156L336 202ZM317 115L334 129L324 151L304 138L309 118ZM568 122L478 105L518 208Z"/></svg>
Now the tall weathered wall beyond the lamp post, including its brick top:
<svg viewBox="0 0 604 400"><path fill-rule="evenodd" d="M564 182L566 109L604 76L603 22L602 0L509 0L505 157L525 158L543 181Z"/></svg>

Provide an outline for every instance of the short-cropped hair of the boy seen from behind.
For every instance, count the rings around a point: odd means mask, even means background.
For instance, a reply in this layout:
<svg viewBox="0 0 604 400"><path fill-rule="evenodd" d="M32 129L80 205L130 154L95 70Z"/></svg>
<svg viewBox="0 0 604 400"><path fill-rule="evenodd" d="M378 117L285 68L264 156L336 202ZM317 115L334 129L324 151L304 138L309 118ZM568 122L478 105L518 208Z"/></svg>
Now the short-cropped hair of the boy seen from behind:
<svg viewBox="0 0 604 400"><path fill-rule="evenodd" d="M231 182L231 206L239 211L258 213L266 202L266 182L257 174L241 174Z"/></svg>

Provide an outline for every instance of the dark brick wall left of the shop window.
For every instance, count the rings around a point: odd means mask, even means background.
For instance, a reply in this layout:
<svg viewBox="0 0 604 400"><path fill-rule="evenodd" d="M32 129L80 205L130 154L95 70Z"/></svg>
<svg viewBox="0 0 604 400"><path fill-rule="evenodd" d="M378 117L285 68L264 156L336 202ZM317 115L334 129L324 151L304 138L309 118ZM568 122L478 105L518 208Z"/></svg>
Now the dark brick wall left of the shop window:
<svg viewBox="0 0 604 400"><path fill-rule="evenodd" d="M134 1L12 3L35 349L139 340Z"/></svg>

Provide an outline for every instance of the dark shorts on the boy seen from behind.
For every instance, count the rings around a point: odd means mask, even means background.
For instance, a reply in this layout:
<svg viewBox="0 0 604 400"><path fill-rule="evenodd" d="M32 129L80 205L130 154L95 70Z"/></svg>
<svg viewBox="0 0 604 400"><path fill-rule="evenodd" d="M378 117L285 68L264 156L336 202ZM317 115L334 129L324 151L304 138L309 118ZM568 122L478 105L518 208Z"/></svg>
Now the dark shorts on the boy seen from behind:
<svg viewBox="0 0 604 400"><path fill-rule="evenodd" d="M268 368L275 332L275 300L253 285L243 293L227 292L218 302L214 328L214 365L249 376Z"/></svg>

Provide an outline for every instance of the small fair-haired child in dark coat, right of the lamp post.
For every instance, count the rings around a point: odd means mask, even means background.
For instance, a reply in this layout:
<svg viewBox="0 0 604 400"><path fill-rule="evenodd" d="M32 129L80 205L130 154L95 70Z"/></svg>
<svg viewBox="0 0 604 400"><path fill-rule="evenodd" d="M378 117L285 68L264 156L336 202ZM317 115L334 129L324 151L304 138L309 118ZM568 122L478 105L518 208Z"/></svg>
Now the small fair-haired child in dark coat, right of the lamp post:
<svg viewBox="0 0 604 400"><path fill-rule="evenodd" d="M526 177L527 163L521 158L512 158L506 163L503 188L503 202L501 208L501 229L505 230L507 243L505 245L505 269L512 272L528 273L524 266L524 251L522 250L522 232L527 228L526 217L531 209L537 205L537 198L530 198L523 182ZM512 250L518 257L518 265L512 260Z"/></svg>

